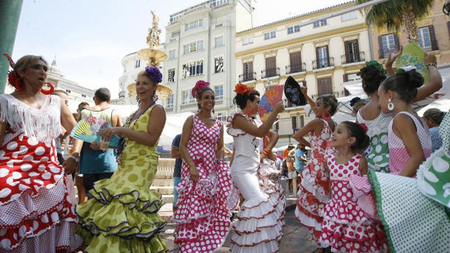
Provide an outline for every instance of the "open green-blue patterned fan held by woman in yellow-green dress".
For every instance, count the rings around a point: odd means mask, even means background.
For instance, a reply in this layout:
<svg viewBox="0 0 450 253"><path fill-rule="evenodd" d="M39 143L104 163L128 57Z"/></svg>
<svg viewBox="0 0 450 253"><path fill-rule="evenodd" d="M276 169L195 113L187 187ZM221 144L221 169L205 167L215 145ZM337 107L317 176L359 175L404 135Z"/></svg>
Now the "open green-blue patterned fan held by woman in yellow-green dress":
<svg viewBox="0 0 450 253"><path fill-rule="evenodd" d="M84 142L93 143L100 142L101 137L99 132L104 129L111 127L108 122L97 117L87 117L80 120L73 128L71 136L82 140ZM117 148L119 146L119 136L113 135L109 141L109 147Z"/></svg>

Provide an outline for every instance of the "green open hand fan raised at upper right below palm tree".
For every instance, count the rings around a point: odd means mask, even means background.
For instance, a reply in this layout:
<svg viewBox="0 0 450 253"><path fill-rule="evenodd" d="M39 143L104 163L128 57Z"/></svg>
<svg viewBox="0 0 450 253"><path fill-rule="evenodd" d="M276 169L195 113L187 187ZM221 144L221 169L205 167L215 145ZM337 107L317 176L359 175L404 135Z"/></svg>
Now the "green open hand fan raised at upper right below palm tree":
<svg viewBox="0 0 450 253"><path fill-rule="evenodd" d="M397 58L396 62L397 70L398 68L404 66L416 67L416 71L422 74L423 79L425 79L423 85L428 84L428 81L430 80L430 73L428 72L428 68L425 64L425 53L422 48L420 48L420 45L415 42L409 43L403 49L403 53Z"/></svg>

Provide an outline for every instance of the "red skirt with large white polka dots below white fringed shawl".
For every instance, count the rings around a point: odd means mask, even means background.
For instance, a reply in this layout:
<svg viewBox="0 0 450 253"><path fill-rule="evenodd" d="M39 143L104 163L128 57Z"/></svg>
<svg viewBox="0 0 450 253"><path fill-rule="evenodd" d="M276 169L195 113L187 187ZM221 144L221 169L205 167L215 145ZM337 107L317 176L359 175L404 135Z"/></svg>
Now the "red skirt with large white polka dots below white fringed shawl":
<svg viewBox="0 0 450 253"><path fill-rule="evenodd" d="M78 250L83 241L75 235L73 182L57 162L55 140L42 142L9 127L4 140L0 148L0 252Z"/></svg>

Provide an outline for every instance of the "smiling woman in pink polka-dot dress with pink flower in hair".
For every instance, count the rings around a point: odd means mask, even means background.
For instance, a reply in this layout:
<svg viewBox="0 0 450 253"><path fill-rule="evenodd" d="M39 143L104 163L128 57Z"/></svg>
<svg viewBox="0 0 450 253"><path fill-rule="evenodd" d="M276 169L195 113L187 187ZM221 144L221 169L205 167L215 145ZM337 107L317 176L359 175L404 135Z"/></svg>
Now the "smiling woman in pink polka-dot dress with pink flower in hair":
<svg viewBox="0 0 450 253"><path fill-rule="evenodd" d="M223 126L212 117L215 97L209 83L198 81L192 89L198 113L189 117L179 145L183 157L178 190L175 243L180 252L215 252L230 231L227 196L229 168L223 162Z"/></svg>

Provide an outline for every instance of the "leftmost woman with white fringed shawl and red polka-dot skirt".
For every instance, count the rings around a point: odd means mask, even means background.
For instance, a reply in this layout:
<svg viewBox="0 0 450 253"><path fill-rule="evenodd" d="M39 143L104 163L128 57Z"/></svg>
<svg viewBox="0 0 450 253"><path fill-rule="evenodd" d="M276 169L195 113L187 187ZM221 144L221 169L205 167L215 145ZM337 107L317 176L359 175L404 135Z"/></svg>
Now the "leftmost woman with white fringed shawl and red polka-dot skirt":
<svg viewBox="0 0 450 253"><path fill-rule="evenodd" d="M75 252L83 241L75 234L75 194L66 176L72 171L58 163L55 137L61 124L71 131L76 122L49 95L53 86L42 89L48 68L42 57L9 60L16 90L0 95L0 252Z"/></svg>

